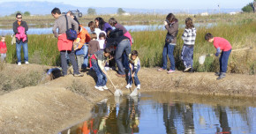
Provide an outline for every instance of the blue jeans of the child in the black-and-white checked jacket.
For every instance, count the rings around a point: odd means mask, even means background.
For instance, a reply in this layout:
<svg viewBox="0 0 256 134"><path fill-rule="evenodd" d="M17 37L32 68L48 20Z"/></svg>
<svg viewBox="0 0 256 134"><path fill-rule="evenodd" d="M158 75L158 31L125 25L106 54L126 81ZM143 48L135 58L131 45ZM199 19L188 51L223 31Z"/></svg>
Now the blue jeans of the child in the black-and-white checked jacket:
<svg viewBox="0 0 256 134"><path fill-rule="evenodd" d="M187 68L193 65L193 50L194 46L184 45L181 52L181 59L183 60L184 67Z"/></svg>

